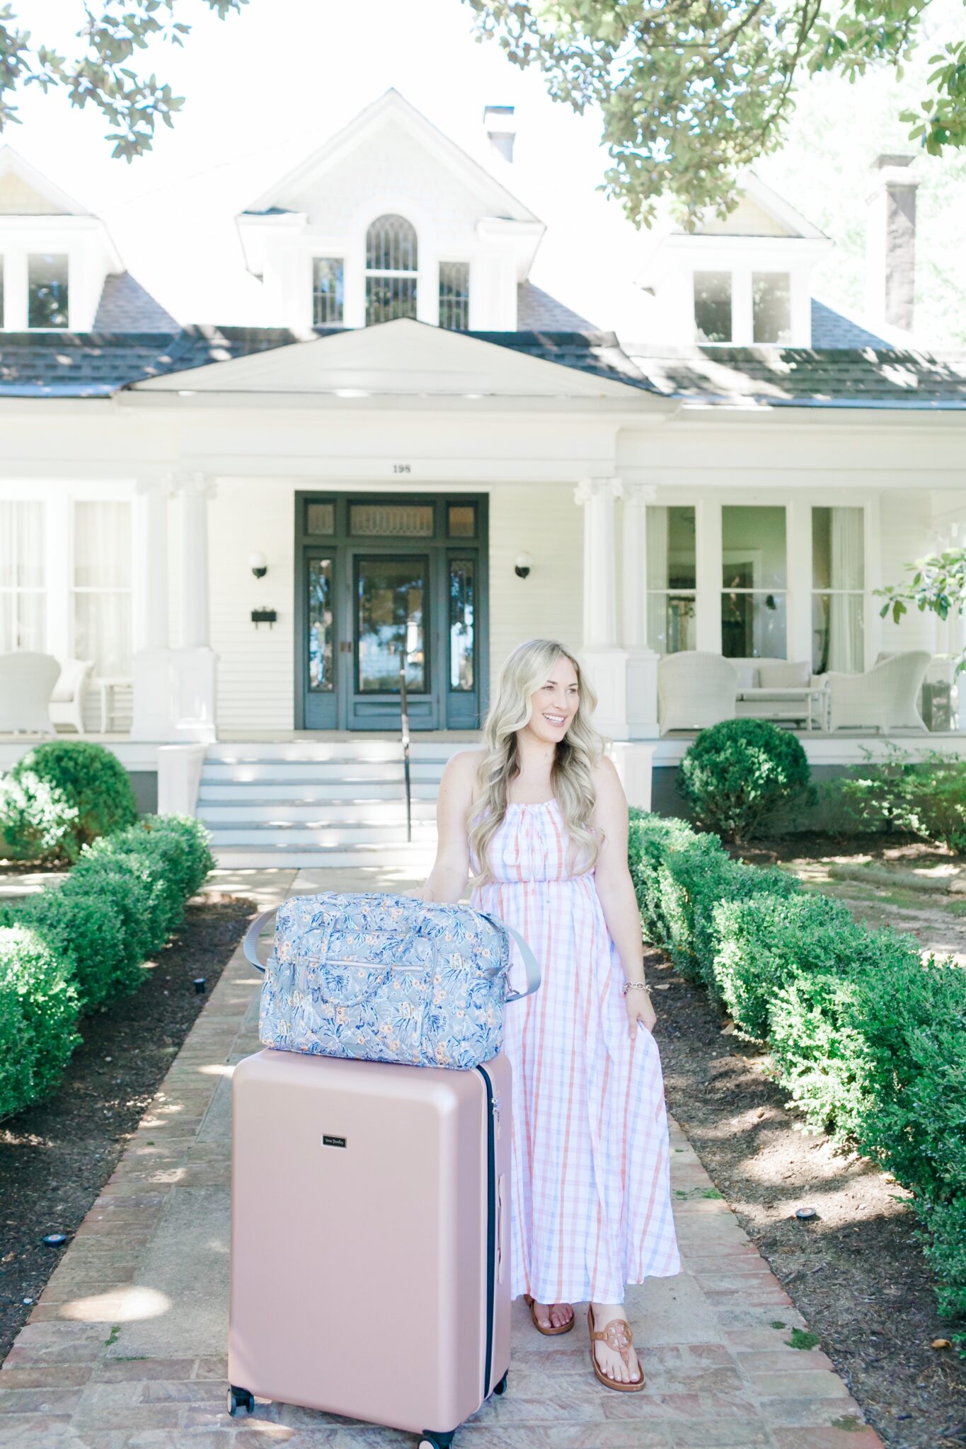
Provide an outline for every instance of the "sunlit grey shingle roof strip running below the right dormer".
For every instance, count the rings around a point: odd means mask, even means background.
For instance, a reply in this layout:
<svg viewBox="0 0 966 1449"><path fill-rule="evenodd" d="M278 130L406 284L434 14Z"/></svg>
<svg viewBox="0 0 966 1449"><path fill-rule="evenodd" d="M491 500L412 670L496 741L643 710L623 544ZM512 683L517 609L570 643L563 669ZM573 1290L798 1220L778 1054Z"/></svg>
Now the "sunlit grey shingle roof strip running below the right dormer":
<svg viewBox="0 0 966 1449"><path fill-rule="evenodd" d="M624 343L668 397L717 406L966 409L966 354Z"/></svg>

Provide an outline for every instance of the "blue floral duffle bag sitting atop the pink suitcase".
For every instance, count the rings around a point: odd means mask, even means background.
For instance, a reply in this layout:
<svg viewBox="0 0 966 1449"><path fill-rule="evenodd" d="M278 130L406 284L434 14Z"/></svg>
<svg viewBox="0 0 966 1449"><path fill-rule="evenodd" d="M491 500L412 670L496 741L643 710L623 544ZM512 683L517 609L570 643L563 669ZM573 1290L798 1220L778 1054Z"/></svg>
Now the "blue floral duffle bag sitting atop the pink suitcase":
<svg viewBox="0 0 966 1449"><path fill-rule="evenodd" d="M275 917L272 951L258 938ZM527 990L507 993L516 940ZM293 895L245 955L265 972L258 1035L280 1052L469 1069L503 1046L503 1007L540 984L526 940L472 910L408 895Z"/></svg>

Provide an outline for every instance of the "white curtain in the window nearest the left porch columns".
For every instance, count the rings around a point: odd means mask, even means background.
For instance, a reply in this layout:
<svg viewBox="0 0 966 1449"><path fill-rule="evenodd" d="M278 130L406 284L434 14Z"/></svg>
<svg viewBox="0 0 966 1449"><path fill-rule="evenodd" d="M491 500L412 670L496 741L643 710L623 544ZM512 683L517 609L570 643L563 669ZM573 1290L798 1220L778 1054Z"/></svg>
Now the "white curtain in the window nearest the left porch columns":
<svg viewBox="0 0 966 1449"><path fill-rule="evenodd" d="M130 674L130 504L74 504L74 653L101 678Z"/></svg>

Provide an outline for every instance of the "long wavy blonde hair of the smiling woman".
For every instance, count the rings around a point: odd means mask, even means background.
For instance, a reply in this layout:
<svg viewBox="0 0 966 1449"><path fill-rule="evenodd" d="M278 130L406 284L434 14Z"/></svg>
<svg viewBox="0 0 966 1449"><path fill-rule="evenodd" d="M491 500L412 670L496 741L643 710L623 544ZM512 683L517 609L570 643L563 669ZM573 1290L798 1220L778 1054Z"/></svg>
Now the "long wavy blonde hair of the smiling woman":
<svg viewBox="0 0 966 1449"><path fill-rule="evenodd" d="M604 752L604 740L591 724L597 696L565 645L556 639L527 639L504 661L484 720L487 753L476 769L479 796L468 822L469 848L481 867L474 885L492 880L487 851L507 813L510 781L520 774L517 730L530 723L533 696L550 678L560 658L574 665L579 704L566 735L556 746L550 781L571 840L571 869L579 861L589 871L600 855L600 839L591 826L595 804L591 767Z"/></svg>

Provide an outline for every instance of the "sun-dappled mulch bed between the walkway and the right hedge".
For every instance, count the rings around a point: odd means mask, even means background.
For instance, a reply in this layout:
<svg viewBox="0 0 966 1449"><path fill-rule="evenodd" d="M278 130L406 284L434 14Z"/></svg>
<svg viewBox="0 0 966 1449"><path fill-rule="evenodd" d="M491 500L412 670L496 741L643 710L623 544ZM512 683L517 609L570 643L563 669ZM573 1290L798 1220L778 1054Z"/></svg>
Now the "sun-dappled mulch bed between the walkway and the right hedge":
<svg viewBox="0 0 966 1449"><path fill-rule="evenodd" d="M658 952L646 968L662 988L668 1106L866 1417L889 1449L962 1449L966 1361L930 1348L950 1321L936 1308L908 1194L866 1158L802 1132L766 1053L723 1035L727 1017L707 991ZM799 1220L798 1207L818 1216Z"/></svg>

